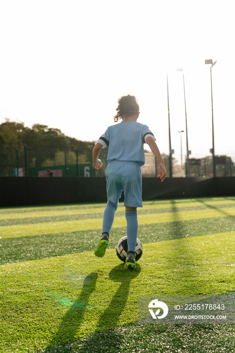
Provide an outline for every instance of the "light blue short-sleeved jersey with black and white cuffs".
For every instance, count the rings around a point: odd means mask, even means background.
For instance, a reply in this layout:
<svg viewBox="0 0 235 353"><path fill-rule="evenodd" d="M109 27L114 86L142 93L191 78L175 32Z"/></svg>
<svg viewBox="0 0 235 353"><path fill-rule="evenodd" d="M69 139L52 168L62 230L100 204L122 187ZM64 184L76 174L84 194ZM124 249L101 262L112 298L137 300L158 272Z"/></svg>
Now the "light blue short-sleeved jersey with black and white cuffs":
<svg viewBox="0 0 235 353"><path fill-rule="evenodd" d="M107 161L114 160L139 162L144 165L144 143L153 133L147 125L137 122L121 122L107 128L105 133L95 143L99 142L103 148L108 146Z"/></svg>

